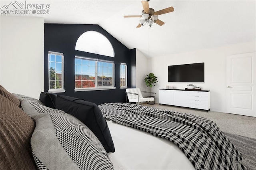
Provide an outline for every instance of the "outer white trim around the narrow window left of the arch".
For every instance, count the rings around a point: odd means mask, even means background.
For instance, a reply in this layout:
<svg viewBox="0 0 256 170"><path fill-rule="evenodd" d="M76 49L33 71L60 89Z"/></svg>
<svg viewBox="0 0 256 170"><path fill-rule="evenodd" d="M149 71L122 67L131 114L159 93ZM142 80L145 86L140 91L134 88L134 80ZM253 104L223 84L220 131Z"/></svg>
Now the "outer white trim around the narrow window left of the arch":
<svg viewBox="0 0 256 170"><path fill-rule="evenodd" d="M54 55L62 55L62 75L61 75L61 79L62 79L62 88L61 89L50 89L50 58L49 58L49 55L50 54L54 54ZM49 93L63 93L65 92L66 90L64 89L64 54L63 53L60 53L60 52L54 52L54 51L48 51L48 92Z"/></svg>

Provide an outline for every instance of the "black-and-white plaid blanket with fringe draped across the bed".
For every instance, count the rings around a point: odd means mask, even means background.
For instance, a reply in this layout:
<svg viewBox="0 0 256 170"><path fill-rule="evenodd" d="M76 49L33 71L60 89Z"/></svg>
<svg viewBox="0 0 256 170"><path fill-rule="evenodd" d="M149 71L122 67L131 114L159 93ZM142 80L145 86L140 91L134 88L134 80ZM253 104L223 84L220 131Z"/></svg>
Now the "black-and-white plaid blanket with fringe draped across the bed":
<svg viewBox="0 0 256 170"><path fill-rule="evenodd" d="M174 142L196 170L246 169L240 152L209 119L130 103L105 103L99 107L105 119Z"/></svg>

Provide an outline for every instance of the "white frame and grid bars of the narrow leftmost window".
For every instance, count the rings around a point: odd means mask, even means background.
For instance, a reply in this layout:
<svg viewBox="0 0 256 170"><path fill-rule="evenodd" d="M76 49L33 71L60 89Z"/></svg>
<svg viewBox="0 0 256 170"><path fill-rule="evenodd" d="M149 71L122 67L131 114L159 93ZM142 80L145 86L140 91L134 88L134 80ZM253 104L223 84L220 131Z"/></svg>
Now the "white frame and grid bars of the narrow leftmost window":
<svg viewBox="0 0 256 170"><path fill-rule="evenodd" d="M56 89L56 88L50 89L50 62L55 62L55 65L56 65L56 63L60 63L60 62L56 62L56 60L50 61L50 55L55 55L55 57L56 57L56 55L61 55L61 87L62 88L60 88L60 89ZM56 81L56 77L55 77L55 81ZM60 52L48 51L48 92L49 93L62 93L65 91L66 90L64 89L64 54L60 53Z"/></svg>

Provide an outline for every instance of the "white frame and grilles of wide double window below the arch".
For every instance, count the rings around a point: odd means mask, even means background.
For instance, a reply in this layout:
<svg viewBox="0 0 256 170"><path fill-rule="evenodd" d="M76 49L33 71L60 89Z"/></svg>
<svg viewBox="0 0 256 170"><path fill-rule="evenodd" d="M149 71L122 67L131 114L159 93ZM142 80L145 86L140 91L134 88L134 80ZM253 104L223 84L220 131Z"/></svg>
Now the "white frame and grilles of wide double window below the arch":
<svg viewBox="0 0 256 170"><path fill-rule="evenodd" d="M103 59L96 59L96 58L90 58L90 57L82 57L75 55L75 60L79 59L85 59L88 61L95 61L95 87L85 87L85 88L76 88L76 61L75 63L75 71L74 71L74 83L75 83L75 89L74 91L95 91L95 90L110 90L110 89L116 89L115 87L115 62L110 60L103 60ZM106 62L106 63L112 63L112 86L98 86L98 62ZM103 82L104 83L104 82Z"/></svg>

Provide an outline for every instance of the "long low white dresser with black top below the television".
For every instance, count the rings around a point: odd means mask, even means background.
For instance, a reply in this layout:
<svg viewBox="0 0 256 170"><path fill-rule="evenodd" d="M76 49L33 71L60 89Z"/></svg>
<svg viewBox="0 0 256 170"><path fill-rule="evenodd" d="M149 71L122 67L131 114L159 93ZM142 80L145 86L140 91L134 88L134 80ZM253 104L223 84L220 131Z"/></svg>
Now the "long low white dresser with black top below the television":
<svg viewBox="0 0 256 170"><path fill-rule="evenodd" d="M159 89L159 105L174 105L210 111L210 91Z"/></svg>

